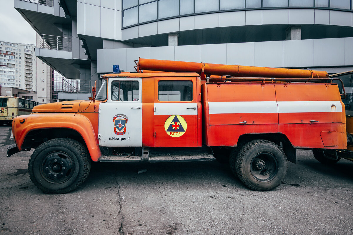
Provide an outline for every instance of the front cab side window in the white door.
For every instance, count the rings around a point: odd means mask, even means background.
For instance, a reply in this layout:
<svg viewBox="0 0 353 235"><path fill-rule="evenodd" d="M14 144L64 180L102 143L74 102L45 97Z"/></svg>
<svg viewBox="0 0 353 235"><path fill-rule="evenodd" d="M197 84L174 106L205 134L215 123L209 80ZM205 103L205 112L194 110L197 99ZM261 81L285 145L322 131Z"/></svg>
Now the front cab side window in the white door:
<svg viewBox="0 0 353 235"><path fill-rule="evenodd" d="M113 101L138 101L139 82L138 81L113 81L112 100Z"/></svg>

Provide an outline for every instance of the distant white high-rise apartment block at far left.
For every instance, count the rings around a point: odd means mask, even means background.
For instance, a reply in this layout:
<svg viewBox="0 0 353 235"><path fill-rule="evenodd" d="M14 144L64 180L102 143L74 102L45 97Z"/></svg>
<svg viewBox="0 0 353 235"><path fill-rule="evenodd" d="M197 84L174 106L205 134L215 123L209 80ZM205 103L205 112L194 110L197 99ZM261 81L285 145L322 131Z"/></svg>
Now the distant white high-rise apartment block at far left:
<svg viewBox="0 0 353 235"><path fill-rule="evenodd" d="M36 91L35 45L0 41L0 85Z"/></svg>

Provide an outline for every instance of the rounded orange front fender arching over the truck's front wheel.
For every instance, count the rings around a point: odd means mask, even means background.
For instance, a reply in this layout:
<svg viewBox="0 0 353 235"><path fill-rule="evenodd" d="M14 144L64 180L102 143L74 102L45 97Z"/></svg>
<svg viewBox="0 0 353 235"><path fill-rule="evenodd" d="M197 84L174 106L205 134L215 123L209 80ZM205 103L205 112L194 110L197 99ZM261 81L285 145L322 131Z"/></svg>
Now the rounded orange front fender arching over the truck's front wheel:
<svg viewBox="0 0 353 235"><path fill-rule="evenodd" d="M25 120L24 123L19 122L21 118ZM13 137L20 151L30 131L50 128L68 128L77 131L85 141L91 159L97 161L101 157L102 153L92 123L79 113L32 113L18 116L12 123Z"/></svg>

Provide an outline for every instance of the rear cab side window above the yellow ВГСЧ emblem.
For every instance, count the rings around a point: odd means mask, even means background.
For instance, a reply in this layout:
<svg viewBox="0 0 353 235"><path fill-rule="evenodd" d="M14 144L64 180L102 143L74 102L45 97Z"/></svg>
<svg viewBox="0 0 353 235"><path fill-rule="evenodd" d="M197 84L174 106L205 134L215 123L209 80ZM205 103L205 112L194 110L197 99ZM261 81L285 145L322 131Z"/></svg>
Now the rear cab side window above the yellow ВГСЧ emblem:
<svg viewBox="0 0 353 235"><path fill-rule="evenodd" d="M192 101L192 81L158 81L159 101Z"/></svg>

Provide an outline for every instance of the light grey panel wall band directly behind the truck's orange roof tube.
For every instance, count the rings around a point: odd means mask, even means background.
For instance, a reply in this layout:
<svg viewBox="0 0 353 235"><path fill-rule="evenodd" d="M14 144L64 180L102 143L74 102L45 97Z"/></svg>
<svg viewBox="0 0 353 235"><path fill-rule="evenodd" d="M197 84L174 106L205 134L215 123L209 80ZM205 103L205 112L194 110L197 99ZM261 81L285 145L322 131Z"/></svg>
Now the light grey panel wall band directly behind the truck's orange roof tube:
<svg viewBox="0 0 353 235"><path fill-rule="evenodd" d="M97 51L97 70L112 72L112 66L119 64L134 71L133 61L139 57L264 67L352 67L352 49L353 38L102 49Z"/></svg>

